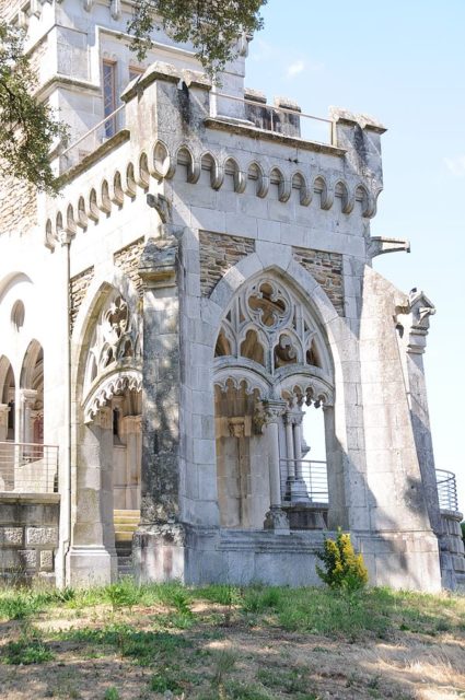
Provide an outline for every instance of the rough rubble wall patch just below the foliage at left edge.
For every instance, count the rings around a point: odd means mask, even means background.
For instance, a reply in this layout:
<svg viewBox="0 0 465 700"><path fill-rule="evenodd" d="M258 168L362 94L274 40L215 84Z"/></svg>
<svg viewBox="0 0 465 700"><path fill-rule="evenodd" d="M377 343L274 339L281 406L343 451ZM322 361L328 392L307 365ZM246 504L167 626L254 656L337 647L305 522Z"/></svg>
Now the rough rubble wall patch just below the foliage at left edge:
<svg viewBox="0 0 465 700"><path fill-rule="evenodd" d="M37 198L33 185L15 177L0 179L0 235L30 233L37 223Z"/></svg>

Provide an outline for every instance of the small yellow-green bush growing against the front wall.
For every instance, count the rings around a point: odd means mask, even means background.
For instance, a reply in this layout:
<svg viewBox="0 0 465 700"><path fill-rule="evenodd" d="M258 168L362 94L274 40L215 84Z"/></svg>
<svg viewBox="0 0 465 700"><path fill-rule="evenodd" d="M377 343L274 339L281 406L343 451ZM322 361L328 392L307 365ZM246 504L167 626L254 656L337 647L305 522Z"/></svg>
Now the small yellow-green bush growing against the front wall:
<svg viewBox="0 0 465 700"><path fill-rule="evenodd" d="M325 538L323 551L316 552L324 569L316 567L318 576L332 588L348 592L363 588L368 583L368 571L362 555L353 551L350 535L338 529L336 540Z"/></svg>

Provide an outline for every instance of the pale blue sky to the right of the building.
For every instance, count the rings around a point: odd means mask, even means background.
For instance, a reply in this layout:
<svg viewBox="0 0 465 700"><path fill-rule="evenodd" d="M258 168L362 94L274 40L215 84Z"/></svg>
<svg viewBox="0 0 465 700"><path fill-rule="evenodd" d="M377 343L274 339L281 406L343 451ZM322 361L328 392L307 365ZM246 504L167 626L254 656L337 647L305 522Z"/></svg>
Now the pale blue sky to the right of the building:
<svg viewBox="0 0 465 700"><path fill-rule="evenodd" d="M437 306L425 355L438 468L457 475L465 509L465 2L269 0L247 59L246 85L375 116L384 191L372 235L409 238L375 268Z"/></svg>

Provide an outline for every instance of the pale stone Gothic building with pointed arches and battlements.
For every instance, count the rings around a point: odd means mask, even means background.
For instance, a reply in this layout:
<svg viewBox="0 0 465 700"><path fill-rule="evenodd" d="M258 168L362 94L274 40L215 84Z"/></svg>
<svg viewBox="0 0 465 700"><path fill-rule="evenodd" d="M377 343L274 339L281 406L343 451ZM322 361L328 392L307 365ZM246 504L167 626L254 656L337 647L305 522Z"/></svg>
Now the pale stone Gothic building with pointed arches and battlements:
<svg viewBox="0 0 465 700"><path fill-rule="evenodd" d="M434 308L372 267L383 126L269 105L247 37L218 88L161 31L138 65L124 0L1 5L71 132L60 196L2 182L3 575L313 584L340 526L373 584L463 582Z"/></svg>

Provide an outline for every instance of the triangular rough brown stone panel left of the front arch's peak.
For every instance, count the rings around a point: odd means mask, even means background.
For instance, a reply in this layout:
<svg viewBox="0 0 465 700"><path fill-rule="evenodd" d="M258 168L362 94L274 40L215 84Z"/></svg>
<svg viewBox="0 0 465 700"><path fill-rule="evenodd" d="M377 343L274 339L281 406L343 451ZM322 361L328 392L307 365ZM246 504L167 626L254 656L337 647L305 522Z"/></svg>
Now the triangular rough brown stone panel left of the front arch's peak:
<svg viewBox="0 0 465 700"><path fill-rule="evenodd" d="M253 238L200 231L200 290L209 296L217 282L241 258L255 252Z"/></svg>

